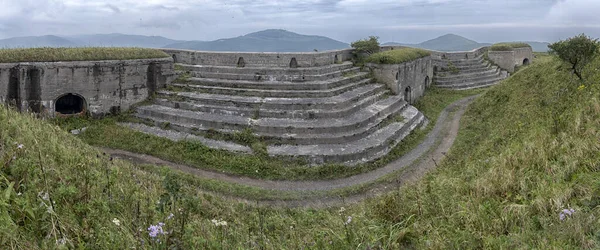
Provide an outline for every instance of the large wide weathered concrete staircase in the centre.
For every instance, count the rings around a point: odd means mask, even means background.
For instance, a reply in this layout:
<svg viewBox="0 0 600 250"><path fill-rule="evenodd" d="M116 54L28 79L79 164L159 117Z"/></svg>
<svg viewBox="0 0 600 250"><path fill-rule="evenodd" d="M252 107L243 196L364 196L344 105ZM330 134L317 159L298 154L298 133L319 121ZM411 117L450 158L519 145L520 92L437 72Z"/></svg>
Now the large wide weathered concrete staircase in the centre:
<svg viewBox="0 0 600 250"><path fill-rule="evenodd" d="M137 108L137 117L159 126L129 127L159 136L173 134L158 131L168 127L178 139L251 129L271 156L355 165L384 156L425 119L350 62L310 68L177 68L189 77L173 83L170 91L158 91L153 104ZM247 148L198 140L213 148Z"/></svg>

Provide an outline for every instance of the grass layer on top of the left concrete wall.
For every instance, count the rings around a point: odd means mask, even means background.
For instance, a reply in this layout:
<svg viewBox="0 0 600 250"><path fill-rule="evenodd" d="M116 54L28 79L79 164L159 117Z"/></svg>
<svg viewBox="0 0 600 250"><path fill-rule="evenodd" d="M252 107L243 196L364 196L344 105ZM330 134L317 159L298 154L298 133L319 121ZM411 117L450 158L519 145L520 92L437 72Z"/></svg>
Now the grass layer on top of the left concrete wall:
<svg viewBox="0 0 600 250"><path fill-rule="evenodd" d="M0 63L132 60L169 57L165 52L143 48L31 48L0 49Z"/></svg>

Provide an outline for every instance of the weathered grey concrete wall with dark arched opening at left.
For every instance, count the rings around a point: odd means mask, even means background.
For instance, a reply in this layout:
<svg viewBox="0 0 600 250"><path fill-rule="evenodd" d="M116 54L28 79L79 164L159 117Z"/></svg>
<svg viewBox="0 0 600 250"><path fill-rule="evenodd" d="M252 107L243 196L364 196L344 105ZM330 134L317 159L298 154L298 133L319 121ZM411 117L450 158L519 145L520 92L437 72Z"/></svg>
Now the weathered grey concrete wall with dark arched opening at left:
<svg viewBox="0 0 600 250"><path fill-rule="evenodd" d="M55 116L55 102L65 94L85 99L97 116L129 109L174 76L171 58L126 61L0 64L0 101L44 116Z"/></svg>

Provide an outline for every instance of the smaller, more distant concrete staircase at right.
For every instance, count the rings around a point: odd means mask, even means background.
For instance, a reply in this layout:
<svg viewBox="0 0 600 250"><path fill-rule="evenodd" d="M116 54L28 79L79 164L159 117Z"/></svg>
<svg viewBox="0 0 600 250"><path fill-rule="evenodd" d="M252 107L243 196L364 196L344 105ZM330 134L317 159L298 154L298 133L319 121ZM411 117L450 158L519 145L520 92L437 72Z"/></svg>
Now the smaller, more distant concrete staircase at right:
<svg viewBox="0 0 600 250"><path fill-rule="evenodd" d="M441 60L437 62L434 84L440 88L474 89L492 86L508 77L508 72L479 56L473 59Z"/></svg>

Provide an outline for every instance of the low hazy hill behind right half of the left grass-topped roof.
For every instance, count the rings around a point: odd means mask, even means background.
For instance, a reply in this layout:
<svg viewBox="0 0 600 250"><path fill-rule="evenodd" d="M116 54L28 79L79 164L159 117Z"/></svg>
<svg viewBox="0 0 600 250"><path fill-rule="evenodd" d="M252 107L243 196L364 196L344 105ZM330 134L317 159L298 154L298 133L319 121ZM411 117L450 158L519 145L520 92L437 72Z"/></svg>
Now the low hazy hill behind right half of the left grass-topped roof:
<svg viewBox="0 0 600 250"><path fill-rule="evenodd" d="M168 39L162 36L140 36L125 35L119 33L78 35L69 36L79 46L102 46L102 47L145 47L161 48L168 44L180 43L182 41Z"/></svg>

